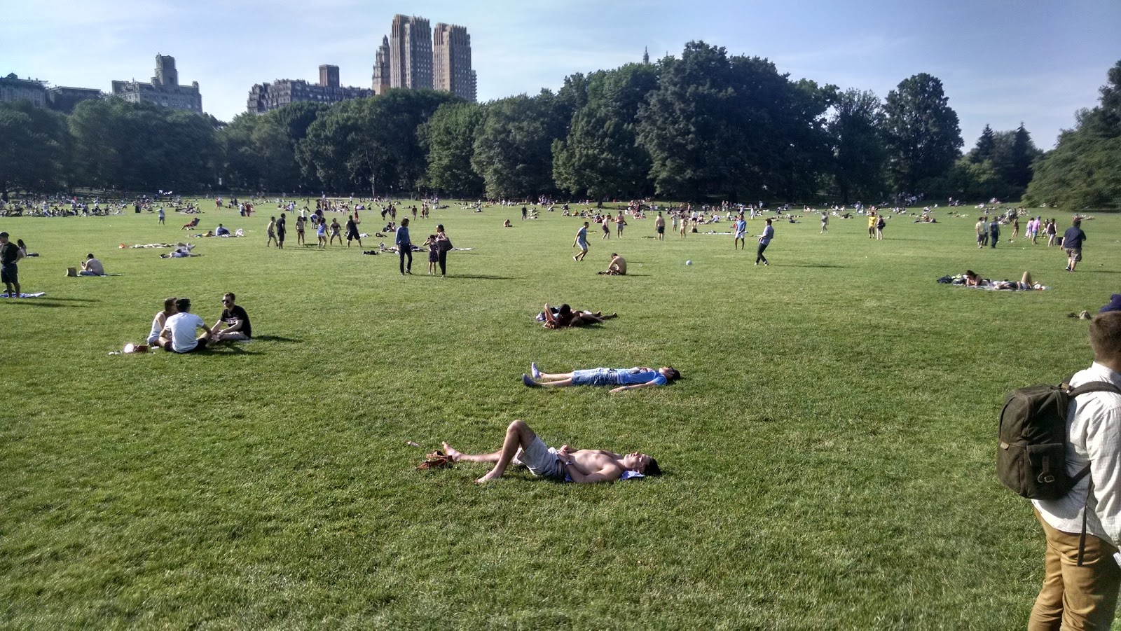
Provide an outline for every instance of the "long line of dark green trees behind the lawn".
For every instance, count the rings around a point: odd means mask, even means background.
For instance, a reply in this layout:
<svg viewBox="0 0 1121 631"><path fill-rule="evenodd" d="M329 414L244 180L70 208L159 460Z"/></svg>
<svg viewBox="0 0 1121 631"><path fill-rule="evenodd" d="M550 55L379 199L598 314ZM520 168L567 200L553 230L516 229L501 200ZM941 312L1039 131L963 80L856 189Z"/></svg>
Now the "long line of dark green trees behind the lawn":
<svg viewBox="0 0 1121 631"><path fill-rule="evenodd" d="M1109 82L1047 154L1022 124L985 127L963 154L957 114L929 74L881 100L703 41L482 104L391 90L223 123L117 99L70 117L3 103L0 187L840 203L924 193L1112 207L1121 62Z"/></svg>

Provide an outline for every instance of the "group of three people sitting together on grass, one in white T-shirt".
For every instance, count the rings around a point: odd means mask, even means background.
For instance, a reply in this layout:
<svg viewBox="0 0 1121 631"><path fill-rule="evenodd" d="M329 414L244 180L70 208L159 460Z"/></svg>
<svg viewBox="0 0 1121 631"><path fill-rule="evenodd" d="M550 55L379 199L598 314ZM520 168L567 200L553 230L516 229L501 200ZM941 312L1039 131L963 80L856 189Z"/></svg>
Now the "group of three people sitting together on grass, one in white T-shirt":
<svg viewBox="0 0 1121 631"><path fill-rule="evenodd" d="M220 342L248 342L253 327L249 314L234 304L234 295L222 296L222 315L214 326L191 313L191 298L166 298L164 309L156 314L148 333L148 344L175 353L196 353ZM196 337L197 332L203 334Z"/></svg>

